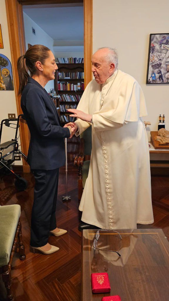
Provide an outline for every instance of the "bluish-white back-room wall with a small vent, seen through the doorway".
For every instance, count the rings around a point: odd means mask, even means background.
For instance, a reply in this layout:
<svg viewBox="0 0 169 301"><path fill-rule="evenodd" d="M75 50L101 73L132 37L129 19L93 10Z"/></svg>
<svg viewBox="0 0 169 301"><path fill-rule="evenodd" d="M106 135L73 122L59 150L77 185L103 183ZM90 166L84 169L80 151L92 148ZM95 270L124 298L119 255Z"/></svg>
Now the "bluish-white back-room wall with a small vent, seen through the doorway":
<svg viewBox="0 0 169 301"><path fill-rule="evenodd" d="M28 44L31 45L41 44L48 47L53 52L54 40L50 36L48 36L48 34L45 33L45 31L41 29L24 12L23 12L23 20L24 20L24 29L25 29L26 50L28 49ZM32 33L32 27L35 29L36 35ZM50 88L54 88L53 80L50 80L45 86L47 92L49 92Z"/></svg>

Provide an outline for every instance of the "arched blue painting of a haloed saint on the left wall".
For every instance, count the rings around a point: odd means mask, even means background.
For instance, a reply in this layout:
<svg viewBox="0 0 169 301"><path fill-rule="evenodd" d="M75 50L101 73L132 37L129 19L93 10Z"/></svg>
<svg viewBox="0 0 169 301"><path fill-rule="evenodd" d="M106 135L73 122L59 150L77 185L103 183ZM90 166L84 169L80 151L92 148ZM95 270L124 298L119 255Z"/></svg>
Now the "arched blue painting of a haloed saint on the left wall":
<svg viewBox="0 0 169 301"><path fill-rule="evenodd" d="M8 57L0 53L0 91L14 90L12 66Z"/></svg>

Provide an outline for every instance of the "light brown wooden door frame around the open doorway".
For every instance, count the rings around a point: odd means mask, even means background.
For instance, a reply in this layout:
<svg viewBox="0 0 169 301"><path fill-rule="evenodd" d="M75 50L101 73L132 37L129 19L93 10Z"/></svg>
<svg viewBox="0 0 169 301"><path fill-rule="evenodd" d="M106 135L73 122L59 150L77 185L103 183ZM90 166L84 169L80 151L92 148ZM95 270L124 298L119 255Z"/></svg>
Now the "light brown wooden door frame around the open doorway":
<svg viewBox="0 0 169 301"><path fill-rule="evenodd" d="M83 2L84 5L84 85L86 87L92 79L91 56L93 44L93 0L5 0L18 115L22 114L22 109L20 107L20 96L17 95L17 91L19 89L17 59L26 52L22 5L79 2ZM20 142L22 152L27 154L29 148L29 130L24 121L22 121L20 125ZM29 171L29 165L23 159L23 172Z"/></svg>

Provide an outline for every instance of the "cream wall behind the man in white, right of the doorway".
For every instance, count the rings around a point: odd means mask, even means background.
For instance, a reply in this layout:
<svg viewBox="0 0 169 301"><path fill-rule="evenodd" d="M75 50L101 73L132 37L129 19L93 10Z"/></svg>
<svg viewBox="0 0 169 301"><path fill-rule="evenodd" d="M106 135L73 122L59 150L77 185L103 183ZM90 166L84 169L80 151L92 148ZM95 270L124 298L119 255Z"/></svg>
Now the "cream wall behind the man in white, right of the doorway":
<svg viewBox="0 0 169 301"><path fill-rule="evenodd" d="M150 33L169 32L169 1L93 0L93 52L100 47L116 48L119 69L140 83L148 110L148 130L158 130L158 116L165 114L169 130L169 85L146 85Z"/></svg>

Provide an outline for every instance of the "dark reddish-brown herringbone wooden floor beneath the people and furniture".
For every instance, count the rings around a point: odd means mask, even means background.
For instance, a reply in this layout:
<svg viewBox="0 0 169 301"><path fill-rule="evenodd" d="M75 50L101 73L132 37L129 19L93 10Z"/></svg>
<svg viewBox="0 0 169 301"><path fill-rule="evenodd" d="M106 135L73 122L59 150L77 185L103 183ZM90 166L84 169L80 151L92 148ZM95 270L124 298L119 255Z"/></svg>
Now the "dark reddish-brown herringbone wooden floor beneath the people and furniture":
<svg viewBox="0 0 169 301"><path fill-rule="evenodd" d="M77 173L68 174L71 201L62 202L65 195L65 173L60 172L57 202L57 225L68 231L61 237L49 237L49 243L60 248L49 256L33 254L29 248L30 219L34 178L22 174L28 182L26 191L17 192L12 175L1 177L0 205L20 204L26 260L18 254L12 266L12 289L17 301L80 301L81 291L81 233L78 231ZM152 176L152 202L155 222L138 228L162 228L169 237L169 177Z"/></svg>

